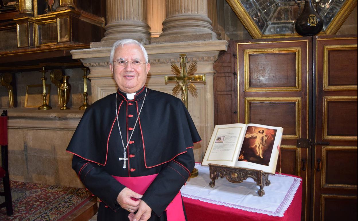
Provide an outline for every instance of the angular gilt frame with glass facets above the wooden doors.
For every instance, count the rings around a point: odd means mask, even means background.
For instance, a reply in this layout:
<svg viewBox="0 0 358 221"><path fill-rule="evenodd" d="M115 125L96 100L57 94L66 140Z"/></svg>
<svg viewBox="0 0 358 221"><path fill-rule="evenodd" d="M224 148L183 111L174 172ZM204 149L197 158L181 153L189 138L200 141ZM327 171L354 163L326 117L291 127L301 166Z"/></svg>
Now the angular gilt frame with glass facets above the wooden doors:
<svg viewBox="0 0 358 221"><path fill-rule="evenodd" d="M317 35L334 35L357 5L357 0L312 0L324 20ZM294 29L299 15L295 0L227 0L253 39L300 37ZM304 0L300 1L300 11Z"/></svg>

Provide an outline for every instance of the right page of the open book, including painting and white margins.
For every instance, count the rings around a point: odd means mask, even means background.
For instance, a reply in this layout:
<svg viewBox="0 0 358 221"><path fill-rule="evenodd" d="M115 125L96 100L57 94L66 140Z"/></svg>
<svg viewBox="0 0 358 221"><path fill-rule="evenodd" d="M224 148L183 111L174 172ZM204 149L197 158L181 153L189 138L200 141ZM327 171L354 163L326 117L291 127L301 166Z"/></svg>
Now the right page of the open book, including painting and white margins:
<svg viewBox="0 0 358 221"><path fill-rule="evenodd" d="M275 173L283 128L247 124L236 167Z"/></svg>

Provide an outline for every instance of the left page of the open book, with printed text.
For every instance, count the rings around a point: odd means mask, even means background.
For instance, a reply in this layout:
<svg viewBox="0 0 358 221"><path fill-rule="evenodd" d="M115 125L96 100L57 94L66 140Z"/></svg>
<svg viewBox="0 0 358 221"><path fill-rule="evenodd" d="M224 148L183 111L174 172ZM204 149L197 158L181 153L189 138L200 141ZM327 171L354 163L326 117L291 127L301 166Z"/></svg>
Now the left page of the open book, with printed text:
<svg viewBox="0 0 358 221"><path fill-rule="evenodd" d="M235 165L245 129L245 124L216 125L202 165Z"/></svg>

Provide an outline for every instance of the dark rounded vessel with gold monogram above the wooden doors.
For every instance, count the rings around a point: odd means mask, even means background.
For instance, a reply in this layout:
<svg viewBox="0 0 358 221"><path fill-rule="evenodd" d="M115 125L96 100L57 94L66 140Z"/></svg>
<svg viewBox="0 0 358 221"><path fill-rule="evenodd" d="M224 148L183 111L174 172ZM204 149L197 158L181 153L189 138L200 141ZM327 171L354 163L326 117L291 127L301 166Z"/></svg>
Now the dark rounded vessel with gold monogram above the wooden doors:
<svg viewBox="0 0 358 221"><path fill-rule="evenodd" d="M295 24L296 32L302 36L318 34L323 27L323 20L313 8L312 0L305 0L305 7Z"/></svg>

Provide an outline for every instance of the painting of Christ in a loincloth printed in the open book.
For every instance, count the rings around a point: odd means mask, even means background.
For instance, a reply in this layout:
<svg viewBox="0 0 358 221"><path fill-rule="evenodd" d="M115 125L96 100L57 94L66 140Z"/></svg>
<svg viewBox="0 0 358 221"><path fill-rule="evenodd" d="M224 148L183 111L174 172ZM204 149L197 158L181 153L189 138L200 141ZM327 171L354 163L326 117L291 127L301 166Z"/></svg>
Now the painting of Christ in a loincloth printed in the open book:
<svg viewBox="0 0 358 221"><path fill-rule="evenodd" d="M238 161L268 166L277 130L248 126Z"/></svg>

